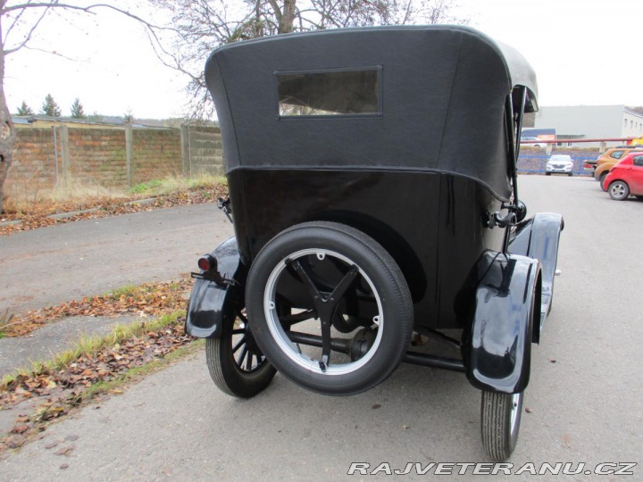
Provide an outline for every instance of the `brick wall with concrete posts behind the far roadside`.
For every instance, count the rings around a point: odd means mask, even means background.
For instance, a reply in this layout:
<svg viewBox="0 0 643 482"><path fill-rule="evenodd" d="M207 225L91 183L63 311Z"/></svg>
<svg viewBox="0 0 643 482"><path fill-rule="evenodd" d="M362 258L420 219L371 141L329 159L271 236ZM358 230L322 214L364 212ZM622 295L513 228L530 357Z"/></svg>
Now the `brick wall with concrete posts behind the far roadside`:
<svg viewBox="0 0 643 482"><path fill-rule="evenodd" d="M222 172L219 129L190 129L191 138L184 136L188 129L16 129L4 189L11 195L69 181L126 189L168 176Z"/></svg>

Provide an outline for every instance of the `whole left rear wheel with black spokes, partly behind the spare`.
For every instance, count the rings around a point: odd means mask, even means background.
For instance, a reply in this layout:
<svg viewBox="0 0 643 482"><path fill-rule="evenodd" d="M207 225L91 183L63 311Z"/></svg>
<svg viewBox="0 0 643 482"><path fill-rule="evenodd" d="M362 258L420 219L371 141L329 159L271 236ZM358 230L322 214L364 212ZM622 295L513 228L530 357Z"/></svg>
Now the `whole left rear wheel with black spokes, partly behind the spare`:
<svg viewBox="0 0 643 482"><path fill-rule="evenodd" d="M222 392L250 398L270 384L276 370L256 345L247 326L246 311L235 306L226 311L221 337L205 340L208 370Z"/></svg>

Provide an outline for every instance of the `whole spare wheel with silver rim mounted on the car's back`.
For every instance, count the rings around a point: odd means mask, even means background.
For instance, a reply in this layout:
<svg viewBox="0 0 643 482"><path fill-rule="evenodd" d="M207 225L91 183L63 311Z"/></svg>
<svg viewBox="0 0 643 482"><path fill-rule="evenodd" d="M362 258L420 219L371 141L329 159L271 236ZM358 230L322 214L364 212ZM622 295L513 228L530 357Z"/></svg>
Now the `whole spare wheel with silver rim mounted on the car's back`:
<svg viewBox="0 0 643 482"><path fill-rule="evenodd" d="M397 263L372 237L334 222L296 225L263 246L248 273L246 310L271 364L324 395L357 394L388 378L413 330Z"/></svg>

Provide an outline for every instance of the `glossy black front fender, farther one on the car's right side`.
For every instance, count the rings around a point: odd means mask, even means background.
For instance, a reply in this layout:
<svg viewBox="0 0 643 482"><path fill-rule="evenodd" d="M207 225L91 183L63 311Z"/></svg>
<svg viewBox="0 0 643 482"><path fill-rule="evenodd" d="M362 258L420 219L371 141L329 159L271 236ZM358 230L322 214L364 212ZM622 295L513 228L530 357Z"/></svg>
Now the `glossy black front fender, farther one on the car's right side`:
<svg viewBox="0 0 643 482"><path fill-rule="evenodd" d="M537 259L542 268L540 318L534 330L534 343L539 342L540 330L545 325L547 313L551 309L558 243L563 229L563 216L551 212L540 212L533 218L518 224L509 240L509 253Z"/></svg>

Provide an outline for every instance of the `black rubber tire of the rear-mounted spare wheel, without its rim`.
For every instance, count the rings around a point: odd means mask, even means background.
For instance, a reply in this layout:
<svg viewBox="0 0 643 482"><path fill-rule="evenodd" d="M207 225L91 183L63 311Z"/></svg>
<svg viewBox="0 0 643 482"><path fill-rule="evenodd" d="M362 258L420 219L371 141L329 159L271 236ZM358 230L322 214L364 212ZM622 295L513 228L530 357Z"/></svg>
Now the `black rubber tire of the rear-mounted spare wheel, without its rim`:
<svg viewBox="0 0 643 482"><path fill-rule="evenodd" d="M382 300L385 321L380 345L369 362L349 373L328 375L305 370L288 358L268 328L263 312L268 278L278 263L303 249L327 249L346 256L371 278ZM298 224L263 246L248 273L246 308L255 340L268 360L297 385L322 395L355 395L380 384L397 369L411 343L413 302L397 263L372 237L335 222Z"/></svg>

